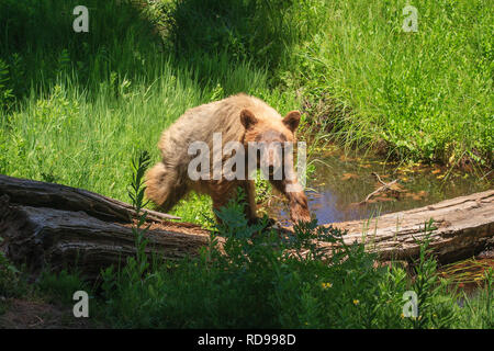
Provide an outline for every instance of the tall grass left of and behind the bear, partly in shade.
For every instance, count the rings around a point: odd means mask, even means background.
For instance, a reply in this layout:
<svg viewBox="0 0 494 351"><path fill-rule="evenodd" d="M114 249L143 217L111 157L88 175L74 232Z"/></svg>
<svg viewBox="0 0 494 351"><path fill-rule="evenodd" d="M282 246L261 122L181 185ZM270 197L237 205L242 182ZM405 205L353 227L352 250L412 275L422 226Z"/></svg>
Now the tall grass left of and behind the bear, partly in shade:
<svg viewBox="0 0 494 351"><path fill-rule="evenodd" d="M16 98L1 111L0 173L126 200L130 157L145 149L157 161L161 131L187 109L240 91L296 106L293 94L270 91L266 69L226 52L177 56L126 3L87 1L90 31L75 33L76 4L0 5L0 58ZM176 212L202 220L207 200L192 197L197 211Z"/></svg>

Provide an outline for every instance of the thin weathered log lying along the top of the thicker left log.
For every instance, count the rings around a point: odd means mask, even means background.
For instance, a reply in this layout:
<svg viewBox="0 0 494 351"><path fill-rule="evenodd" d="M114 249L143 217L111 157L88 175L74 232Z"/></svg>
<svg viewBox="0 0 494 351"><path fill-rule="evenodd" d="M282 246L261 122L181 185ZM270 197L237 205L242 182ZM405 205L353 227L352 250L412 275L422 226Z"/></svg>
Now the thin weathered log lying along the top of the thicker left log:
<svg viewBox="0 0 494 351"><path fill-rule="evenodd" d="M85 211L87 214L105 220L126 223L134 211L130 204L106 197L87 190L61 184L19 179L0 174L0 196L9 195L13 204L36 207L50 207L64 211ZM180 219L156 211L147 211L148 218Z"/></svg>

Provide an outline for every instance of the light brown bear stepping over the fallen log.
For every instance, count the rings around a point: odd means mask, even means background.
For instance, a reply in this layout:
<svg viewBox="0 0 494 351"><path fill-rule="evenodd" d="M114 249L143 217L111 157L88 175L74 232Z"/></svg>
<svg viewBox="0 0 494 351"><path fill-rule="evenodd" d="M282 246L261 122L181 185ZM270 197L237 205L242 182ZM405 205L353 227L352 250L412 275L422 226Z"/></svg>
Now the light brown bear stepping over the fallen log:
<svg viewBox="0 0 494 351"><path fill-rule="evenodd" d="M214 159L214 135L220 133L221 147L225 147L228 141L237 141L242 147L236 149L240 158L245 157L248 162L249 143L260 145L274 145L273 143L295 143L295 131L299 126L301 114L299 111L291 111L282 117L273 107L262 100L239 93L229 98L202 104L186 111L169 128L165 129L158 143L161 151L161 161L155 165L146 173L146 197L153 201L158 207L167 212L173 207L189 191L205 193L211 196L213 208L220 210L225 206L231 199L237 196L238 188L245 193L245 214L249 220L257 220L255 182L245 177L232 179L221 173L220 178L211 177L207 170L200 179L191 179L190 163L197 155L190 154L189 148L194 141L203 141L211 154L205 155ZM221 156L222 165L232 155ZM252 152L250 152L252 154ZM297 182L293 167L291 152L285 152L285 157L280 152L280 148L272 148L269 151L255 152L255 167L262 170L268 169L269 181L272 186L284 194L289 201L290 217L293 223L299 220L310 222L307 197ZM204 155L203 155L204 156ZM250 155L252 157L252 155ZM245 168L245 167L244 167ZM273 173L281 177L272 177ZM242 172L242 170L239 169ZM210 176L210 177L207 177ZM216 220L220 218L216 215Z"/></svg>

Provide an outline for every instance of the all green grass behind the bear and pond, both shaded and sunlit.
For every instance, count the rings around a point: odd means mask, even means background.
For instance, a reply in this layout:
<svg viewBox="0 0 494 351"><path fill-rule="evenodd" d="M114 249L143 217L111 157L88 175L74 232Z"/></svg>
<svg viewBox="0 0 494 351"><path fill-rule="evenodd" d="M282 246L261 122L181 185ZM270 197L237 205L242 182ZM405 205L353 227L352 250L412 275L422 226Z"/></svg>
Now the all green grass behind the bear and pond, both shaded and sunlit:
<svg viewBox="0 0 494 351"><path fill-rule="evenodd" d="M157 160L188 107L239 91L305 105L318 139L490 166L492 4L417 2L404 33L404 3L162 1L144 16L88 1L90 32L75 33L75 1L3 1L0 172L123 200L134 150Z"/></svg>

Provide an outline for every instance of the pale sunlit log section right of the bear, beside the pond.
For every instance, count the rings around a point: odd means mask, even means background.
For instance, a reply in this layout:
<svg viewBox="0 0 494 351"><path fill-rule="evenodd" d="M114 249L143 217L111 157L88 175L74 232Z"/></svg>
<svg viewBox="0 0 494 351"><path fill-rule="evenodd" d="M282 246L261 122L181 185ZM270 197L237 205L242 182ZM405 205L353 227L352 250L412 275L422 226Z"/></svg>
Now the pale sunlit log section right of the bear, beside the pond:
<svg viewBox="0 0 494 351"><path fill-rule="evenodd" d="M366 242L383 260L411 259L418 254L417 240L424 239L430 218L437 228L430 234L430 247L440 261L471 257L494 244L494 190L333 226L348 230L345 242Z"/></svg>

